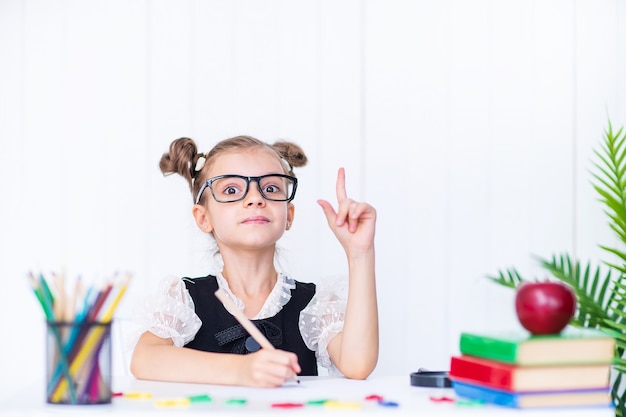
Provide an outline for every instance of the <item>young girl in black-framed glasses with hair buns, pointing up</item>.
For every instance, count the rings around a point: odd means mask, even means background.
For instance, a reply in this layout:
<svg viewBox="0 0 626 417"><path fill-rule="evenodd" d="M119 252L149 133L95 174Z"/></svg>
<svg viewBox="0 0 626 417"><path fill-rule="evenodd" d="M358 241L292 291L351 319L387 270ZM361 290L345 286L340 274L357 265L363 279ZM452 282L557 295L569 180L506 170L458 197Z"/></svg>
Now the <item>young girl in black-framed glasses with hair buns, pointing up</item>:
<svg viewBox="0 0 626 417"><path fill-rule="evenodd" d="M378 360L374 274L376 211L349 199L337 175L337 210L318 203L348 259L347 300L278 272L276 242L294 221L298 185L293 167L305 165L290 142L269 145L248 136L199 154L195 142L172 142L163 174L189 183L192 215L215 240L220 270L202 278L164 280L150 297L131 372L139 379L275 387L295 374L364 379ZM224 289L276 349L259 349L215 297Z"/></svg>

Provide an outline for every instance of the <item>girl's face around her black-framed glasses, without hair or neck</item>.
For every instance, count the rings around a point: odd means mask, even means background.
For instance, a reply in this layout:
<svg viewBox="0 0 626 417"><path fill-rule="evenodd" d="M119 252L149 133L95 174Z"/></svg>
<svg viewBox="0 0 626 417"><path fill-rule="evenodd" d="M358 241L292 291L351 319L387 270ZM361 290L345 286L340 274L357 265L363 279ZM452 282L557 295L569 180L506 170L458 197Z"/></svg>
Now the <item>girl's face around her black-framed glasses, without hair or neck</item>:
<svg viewBox="0 0 626 417"><path fill-rule="evenodd" d="M237 174L257 177L282 174L280 160L266 149L231 151L220 155L209 170L209 177ZM207 220L215 240L233 249L269 249L283 235L287 223L293 220L294 207L284 201L269 201L259 192L258 183L250 181L243 200L231 203L215 201L209 190L206 198Z"/></svg>

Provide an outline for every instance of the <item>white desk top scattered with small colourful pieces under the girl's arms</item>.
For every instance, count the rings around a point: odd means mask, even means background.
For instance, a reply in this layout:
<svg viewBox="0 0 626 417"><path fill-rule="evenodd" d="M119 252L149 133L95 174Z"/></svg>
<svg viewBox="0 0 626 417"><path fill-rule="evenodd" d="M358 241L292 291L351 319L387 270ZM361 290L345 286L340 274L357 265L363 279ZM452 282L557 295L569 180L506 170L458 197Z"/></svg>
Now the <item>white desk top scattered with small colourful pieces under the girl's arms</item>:
<svg viewBox="0 0 626 417"><path fill-rule="evenodd" d="M149 392L151 399L133 400L113 398L107 405L52 405L45 403L43 384L19 393L7 404L1 405L2 416L178 416L185 414L207 414L212 416L301 416L355 414L415 415L415 416L529 416L529 417L609 417L615 416L611 408L588 409L542 409L516 410L496 406L459 406L454 403L433 402L434 397L453 397L451 389L419 388L410 385L409 375L398 377L373 377L366 381L344 378L304 377L300 384L289 384L274 389L225 387L216 385L178 384L153 381L138 381L133 378L114 380L114 390L122 392ZM191 404L184 407L158 407L158 399L188 397L208 394L213 401L209 404ZM366 401L371 394L381 395L386 401L398 403L398 407L383 407L376 401ZM244 398L244 406L228 406L226 400ZM315 399L359 402L359 411L328 409L321 406L305 406L296 409L275 409L271 404L280 402L302 402Z"/></svg>

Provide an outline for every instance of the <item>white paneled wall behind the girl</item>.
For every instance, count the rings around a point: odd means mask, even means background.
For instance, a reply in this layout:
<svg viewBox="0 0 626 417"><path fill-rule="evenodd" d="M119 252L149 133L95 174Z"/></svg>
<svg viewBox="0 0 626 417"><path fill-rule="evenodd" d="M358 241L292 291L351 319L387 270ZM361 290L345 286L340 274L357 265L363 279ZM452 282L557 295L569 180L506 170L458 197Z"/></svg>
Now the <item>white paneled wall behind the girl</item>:
<svg viewBox="0 0 626 417"><path fill-rule="evenodd" d="M379 215L376 373L517 327L485 275L615 242L589 170L626 123L624 27L618 0L0 1L0 392L43 378L27 271L134 272L119 318L206 273L186 183L158 170L180 136L303 146L281 242L303 281L346 273L316 204L346 167Z"/></svg>

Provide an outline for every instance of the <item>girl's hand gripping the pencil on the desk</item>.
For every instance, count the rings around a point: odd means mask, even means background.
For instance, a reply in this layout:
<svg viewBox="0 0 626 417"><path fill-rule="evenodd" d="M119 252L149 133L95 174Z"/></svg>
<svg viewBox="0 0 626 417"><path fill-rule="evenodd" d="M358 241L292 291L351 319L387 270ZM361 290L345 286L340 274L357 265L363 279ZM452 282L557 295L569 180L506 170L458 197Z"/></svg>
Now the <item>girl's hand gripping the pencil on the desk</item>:
<svg viewBox="0 0 626 417"><path fill-rule="evenodd" d="M301 371L296 354L284 350L259 349L243 359L242 385L279 387Z"/></svg>

